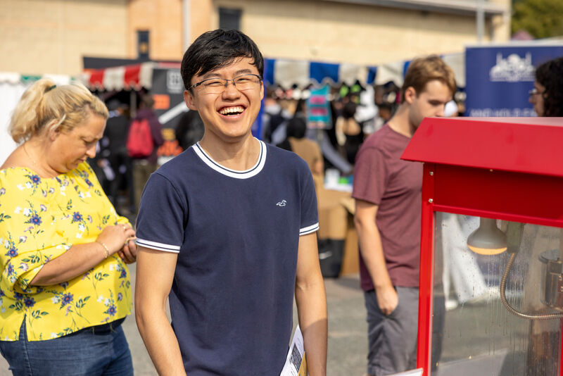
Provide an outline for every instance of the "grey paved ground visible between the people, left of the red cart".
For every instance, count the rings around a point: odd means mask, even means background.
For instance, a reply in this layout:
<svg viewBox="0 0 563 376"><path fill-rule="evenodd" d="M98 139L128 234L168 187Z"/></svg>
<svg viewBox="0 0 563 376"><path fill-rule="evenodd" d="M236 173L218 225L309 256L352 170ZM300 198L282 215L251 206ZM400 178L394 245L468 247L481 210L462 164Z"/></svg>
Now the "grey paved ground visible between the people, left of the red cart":
<svg viewBox="0 0 563 376"><path fill-rule="evenodd" d="M131 268L134 279L134 268ZM365 307L357 275L326 280L329 306L329 376L361 376L367 353ZM156 370L146 353L132 317L123 323L133 356L136 376L155 376ZM8 363L0 357L0 376L11 375Z"/></svg>

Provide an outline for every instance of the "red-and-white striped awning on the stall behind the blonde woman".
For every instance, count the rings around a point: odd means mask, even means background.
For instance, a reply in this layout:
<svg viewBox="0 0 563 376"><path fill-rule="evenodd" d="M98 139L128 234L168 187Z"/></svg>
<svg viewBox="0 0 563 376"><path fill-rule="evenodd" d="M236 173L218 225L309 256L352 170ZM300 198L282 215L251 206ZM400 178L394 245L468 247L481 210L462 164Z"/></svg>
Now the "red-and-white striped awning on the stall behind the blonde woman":
<svg viewBox="0 0 563 376"><path fill-rule="evenodd" d="M91 90L138 90L141 87L151 89L153 68L156 65L157 63L151 61L135 65L85 70L80 75L80 80Z"/></svg>

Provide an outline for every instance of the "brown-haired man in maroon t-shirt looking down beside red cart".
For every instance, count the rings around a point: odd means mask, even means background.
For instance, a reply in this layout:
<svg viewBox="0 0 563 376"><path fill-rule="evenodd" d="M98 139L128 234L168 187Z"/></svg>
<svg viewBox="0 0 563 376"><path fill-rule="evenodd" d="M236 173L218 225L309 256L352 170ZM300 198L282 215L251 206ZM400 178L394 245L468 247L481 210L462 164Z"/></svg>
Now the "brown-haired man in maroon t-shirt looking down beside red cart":
<svg viewBox="0 0 563 376"><path fill-rule="evenodd" d="M438 56L410 63L402 103L356 157L355 227L368 322L367 373L416 368L422 163L400 160L426 116L443 116L455 92Z"/></svg>

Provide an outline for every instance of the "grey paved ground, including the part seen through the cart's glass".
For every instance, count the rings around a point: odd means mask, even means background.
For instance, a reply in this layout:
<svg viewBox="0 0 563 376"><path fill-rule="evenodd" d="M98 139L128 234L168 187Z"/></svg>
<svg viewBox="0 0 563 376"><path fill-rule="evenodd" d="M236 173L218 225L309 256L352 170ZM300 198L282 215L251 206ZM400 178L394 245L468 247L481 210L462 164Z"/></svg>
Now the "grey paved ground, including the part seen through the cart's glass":
<svg viewBox="0 0 563 376"><path fill-rule="evenodd" d="M131 269L134 279L134 268ZM363 294L358 287L358 275L336 280L327 279L325 285L329 305L327 375L362 376L365 373L367 353L367 324ZM549 341L541 339L538 342L538 349L543 349L539 354L540 359L536 363L537 366L535 364L526 371L525 363L529 361L531 349L530 322L507 313L498 299L498 287L491 288L486 298L486 301L458 306L446 313L441 362L438 372L433 372L433 375L559 375L557 365L552 370L547 370L553 361L546 363L544 358L548 356L557 363L560 330L559 334ZM517 295L509 300L519 306L519 299ZM559 320L559 329L560 322ZM123 325L133 356L135 375L156 376L134 319L127 318ZM553 351L545 350L547 342L557 344ZM8 375L11 375L8 365L0 357L0 376Z"/></svg>

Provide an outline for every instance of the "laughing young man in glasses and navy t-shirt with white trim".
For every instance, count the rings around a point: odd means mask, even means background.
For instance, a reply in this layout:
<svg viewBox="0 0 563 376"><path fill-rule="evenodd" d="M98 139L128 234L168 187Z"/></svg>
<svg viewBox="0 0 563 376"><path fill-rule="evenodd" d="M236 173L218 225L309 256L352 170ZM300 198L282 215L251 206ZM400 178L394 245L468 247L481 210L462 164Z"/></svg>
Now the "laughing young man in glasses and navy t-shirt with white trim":
<svg viewBox="0 0 563 376"><path fill-rule="evenodd" d="M279 375L294 295L309 374L326 374L315 187L305 161L252 137L262 70L236 30L184 54L184 99L205 134L151 176L137 218L135 311L159 375Z"/></svg>

